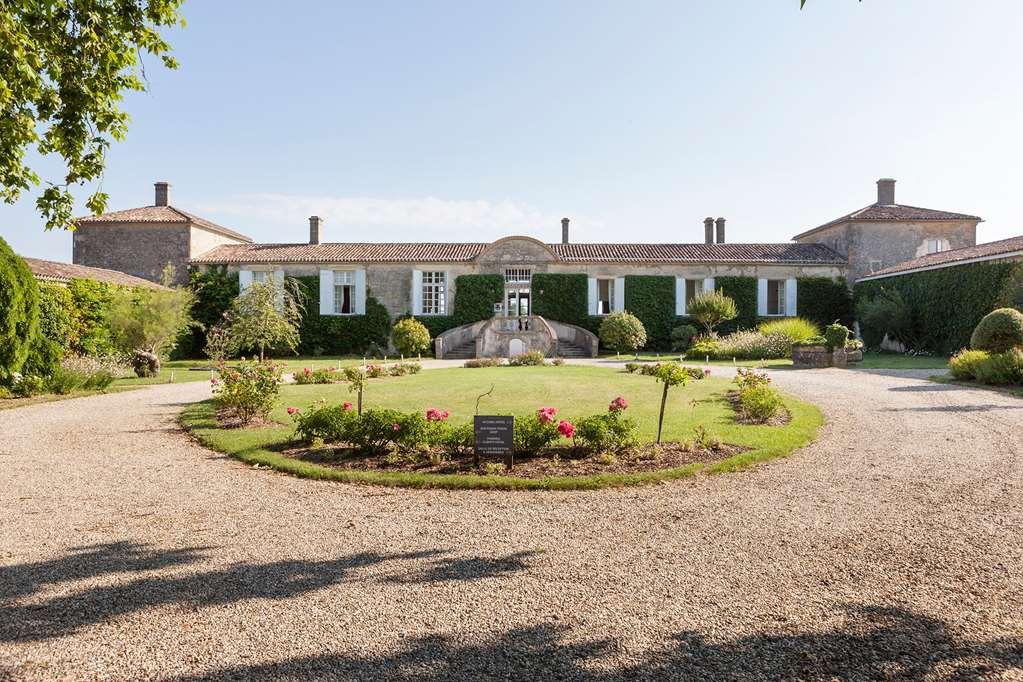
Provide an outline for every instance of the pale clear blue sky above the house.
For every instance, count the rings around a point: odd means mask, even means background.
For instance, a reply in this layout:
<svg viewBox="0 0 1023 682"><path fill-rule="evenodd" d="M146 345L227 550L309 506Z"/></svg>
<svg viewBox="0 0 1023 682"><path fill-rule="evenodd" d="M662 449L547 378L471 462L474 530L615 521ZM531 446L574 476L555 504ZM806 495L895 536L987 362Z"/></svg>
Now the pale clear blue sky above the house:
<svg viewBox="0 0 1023 682"><path fill-rule="evenodd" d="M309 6L315 5L314 9ZM186 2L149 60L112 210L172 203L260 241L780 241L874 200L1023 234L1023 3ZM44 168L54 169L50 165ZM53 176L51 176L53 177ZM84 192L83 192L84 195ZM84 212L83 212L84 213ZM70 260L34 196L26 256Z"/></svg>

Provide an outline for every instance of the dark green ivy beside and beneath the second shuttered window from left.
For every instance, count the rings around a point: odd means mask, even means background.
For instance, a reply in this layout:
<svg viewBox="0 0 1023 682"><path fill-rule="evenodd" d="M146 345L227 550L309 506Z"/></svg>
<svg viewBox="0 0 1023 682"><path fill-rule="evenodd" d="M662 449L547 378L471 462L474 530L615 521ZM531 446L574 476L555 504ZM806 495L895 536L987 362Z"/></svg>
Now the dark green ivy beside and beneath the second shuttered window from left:
<svg viewBox="0 0 1023 682"><path fill-rule="evenodd" d="M305 314L299 327L302 355L358 355L373 345L387 348L391 316L376 299L366 295L365 315L320 315L319 276L296 277L302 287Z"/></svg>

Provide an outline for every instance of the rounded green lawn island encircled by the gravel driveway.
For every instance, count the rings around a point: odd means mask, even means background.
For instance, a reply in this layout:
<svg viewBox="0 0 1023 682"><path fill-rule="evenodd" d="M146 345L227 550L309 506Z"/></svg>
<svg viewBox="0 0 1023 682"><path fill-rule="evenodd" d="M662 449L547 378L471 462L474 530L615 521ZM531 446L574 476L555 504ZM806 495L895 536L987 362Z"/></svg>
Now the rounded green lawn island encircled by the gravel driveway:
<svg viewBox="0 0 1023 682"><path fill-rule="evenodd" d="M527 414L543 406L559 408L559 417L576 419L607 412L608 403L621 395L629 401L629 416L639 424L643 440L653 441L657 431L660 384L649 376L628 374L604 367L494 367L484 369L434 369L419 374L372 379L364 395L365 407L390 407L399 410L426 410L438 407L451 412L451 419L472 419L478 395L493 387L492 396L480 403L481 413ZM333 469L283 457L273 451L286 443L293 434L287 407L300 409L314 401L352 400L342 384L285 385L281 401L272 417L281 425L252 429L222 429L213 419L211 402L190 406L182 413L182 423L205 444L227 452L249 463L259 463L278 470L308 478L371 483L392 486L445 488L531 488L589 489L611 485L638 485L654 481L693 475L698 470L711 472L745 468L756 462L783 457L812 441L822 421L812 405L786 397L792 414L785 426L748 426L735 423L731 407L724 394L732 384L724 379L693 381L673 389L668 397L664 438L691 441L698 425L714 438L750 450L718 462L641 474L545 479L542 481L502 475L441 475L353 471Z"/></svg>

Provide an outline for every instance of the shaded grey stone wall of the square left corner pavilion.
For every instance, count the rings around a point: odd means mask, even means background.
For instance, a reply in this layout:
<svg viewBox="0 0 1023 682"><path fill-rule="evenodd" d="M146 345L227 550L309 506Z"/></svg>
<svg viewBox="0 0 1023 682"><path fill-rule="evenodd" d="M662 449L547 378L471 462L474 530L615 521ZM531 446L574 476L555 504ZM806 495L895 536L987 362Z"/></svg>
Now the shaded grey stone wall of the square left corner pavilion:
<svg viewBox="0 0 1023 682"><path fill-rule="evenodd" d="M119 270L159 282L164 267L177 270L177 283L188 281L191 240L184 223L80 225L73 233L72 262Z"/></svg>

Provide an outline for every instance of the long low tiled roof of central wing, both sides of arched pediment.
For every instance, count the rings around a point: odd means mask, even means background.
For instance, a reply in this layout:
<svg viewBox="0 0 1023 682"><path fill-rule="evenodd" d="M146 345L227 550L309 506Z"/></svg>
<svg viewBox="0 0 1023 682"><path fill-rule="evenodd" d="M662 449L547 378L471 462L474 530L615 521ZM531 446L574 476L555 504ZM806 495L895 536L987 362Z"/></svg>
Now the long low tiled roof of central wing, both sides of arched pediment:
<svg viewBox="0 0 1023 682"><path fill-rule="evenodd" d="M456 263L476 259L488 243L227 244L192 263ZM547 244L570 263L794 263L844 265L824 244Z"/></svg>

